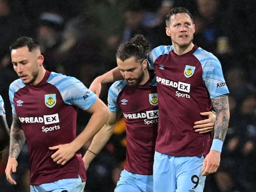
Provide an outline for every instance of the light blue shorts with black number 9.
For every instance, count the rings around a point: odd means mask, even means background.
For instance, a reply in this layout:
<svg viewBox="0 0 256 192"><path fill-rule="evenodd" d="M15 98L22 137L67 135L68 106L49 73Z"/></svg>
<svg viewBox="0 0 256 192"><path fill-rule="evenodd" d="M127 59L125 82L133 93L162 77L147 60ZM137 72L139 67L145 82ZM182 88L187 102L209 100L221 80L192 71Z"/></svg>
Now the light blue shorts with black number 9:
<svg viewBox="0 0 256 192"><path fill-rule="evenodd" d="M155 151L154 192L203 192L204 157L178 157Z"/></svg>

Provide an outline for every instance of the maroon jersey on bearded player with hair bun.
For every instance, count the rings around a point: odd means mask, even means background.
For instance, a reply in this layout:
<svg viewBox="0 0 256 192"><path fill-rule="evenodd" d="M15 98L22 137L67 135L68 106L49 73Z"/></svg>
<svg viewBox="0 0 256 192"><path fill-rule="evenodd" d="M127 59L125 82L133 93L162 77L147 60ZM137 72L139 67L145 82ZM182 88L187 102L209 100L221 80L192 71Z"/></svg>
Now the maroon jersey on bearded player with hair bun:
<svg viewBox="0 0 256 192"><path fill-rule="evenodd" d="M158 127L158 95L150 81L129 86L125 80L109 88L108 108L121 112L126 125L125 170L133 174L152 175Z"/></svg>

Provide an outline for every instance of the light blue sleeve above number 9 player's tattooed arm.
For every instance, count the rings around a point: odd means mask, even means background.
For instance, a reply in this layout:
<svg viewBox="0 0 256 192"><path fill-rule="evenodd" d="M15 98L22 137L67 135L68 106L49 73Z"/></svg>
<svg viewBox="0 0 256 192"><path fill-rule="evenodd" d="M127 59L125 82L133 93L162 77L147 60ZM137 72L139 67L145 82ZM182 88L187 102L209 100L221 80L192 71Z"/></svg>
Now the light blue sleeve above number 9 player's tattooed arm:
<svg viewBox="0 0 256 192"><path fill-rule="evenodd" d="M201 62L203 69L203 80L209 91L210 98L228 94L228 87L225 82L221 63L212 53L198 48L194 55Z"/></svg>

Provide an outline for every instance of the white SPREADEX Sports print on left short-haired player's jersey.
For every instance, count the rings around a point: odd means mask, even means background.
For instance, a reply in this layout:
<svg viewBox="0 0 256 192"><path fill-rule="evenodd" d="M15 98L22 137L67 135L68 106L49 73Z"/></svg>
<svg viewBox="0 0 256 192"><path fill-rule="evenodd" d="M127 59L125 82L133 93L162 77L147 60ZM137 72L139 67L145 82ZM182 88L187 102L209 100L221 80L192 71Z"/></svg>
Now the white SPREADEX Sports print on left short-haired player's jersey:
<svg viewBox="0 0 256 192"><path fill-rule="evenodd" d="M44 123L45 125L59 123L58 113L52 115L44 115L43 117L19 117L21 123ZM52 127L42 126L42 131L47 133L48 131L54 131L60 129L59 125Z"/></svg>

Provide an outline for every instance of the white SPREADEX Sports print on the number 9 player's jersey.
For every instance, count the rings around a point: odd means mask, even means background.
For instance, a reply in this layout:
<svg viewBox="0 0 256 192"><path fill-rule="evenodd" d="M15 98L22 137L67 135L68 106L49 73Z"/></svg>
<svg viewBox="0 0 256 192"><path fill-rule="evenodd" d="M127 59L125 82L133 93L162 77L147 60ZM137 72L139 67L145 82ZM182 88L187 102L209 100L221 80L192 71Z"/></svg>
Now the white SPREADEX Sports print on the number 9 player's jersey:
<svg viewBox="0 0 256 192"><path fill-rule="evenodd" d="M164 78L161 78L161 77L158 77L158 76L156 77L156 81L158 83L177 88L178 91L175 92L176 96L190 98L190 94L187 94L187 93L190 92L190 84L183 83L183 82L180 82L180 81L177 83L175 81L170 81L168 79L164 79ZM184 91L184 92L187 92L187 93L181 93L179 91Z"/></svg>

